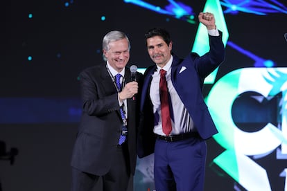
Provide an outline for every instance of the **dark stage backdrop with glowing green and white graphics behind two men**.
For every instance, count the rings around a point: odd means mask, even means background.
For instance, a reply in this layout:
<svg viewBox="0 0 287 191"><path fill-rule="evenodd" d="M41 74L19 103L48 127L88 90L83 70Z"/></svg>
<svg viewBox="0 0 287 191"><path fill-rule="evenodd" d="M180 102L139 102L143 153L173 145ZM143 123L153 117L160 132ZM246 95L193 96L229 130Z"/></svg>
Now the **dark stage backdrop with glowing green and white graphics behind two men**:
<svg viewBox="0 0 287 191"><path fill-rule="evenodd" d="M219 131L207 141L205 190L287 190L286 6L283 0L3 1L0 188L69 190L81 112L77 77L104 64L107 32L128 35L129 66L144 71L153 63L143 35L153 27L170 31L180 57L208 51L198 14L209 11L223 31L226 58L203 89ZM138 160L131 187L154 189L153 156Z"/></svg>

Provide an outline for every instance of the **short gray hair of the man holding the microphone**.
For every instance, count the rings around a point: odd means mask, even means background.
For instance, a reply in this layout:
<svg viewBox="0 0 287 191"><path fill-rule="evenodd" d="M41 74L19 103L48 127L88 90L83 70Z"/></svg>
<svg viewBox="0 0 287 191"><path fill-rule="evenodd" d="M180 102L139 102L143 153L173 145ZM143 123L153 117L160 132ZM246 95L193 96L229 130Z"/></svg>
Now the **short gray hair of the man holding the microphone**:
<svg viewBox="0 0 287 191"><path fill-rule="evenodd" d="M120 39L127 39L128 40L128 50L130 50L130 40L128 39L127 35L125 33L119 31L119 30L112 30L105 37L103 37L103 50L109 51L110 49L110 42L115 42ZM103 60L107 61L107 58L103 54Z"/></svg>

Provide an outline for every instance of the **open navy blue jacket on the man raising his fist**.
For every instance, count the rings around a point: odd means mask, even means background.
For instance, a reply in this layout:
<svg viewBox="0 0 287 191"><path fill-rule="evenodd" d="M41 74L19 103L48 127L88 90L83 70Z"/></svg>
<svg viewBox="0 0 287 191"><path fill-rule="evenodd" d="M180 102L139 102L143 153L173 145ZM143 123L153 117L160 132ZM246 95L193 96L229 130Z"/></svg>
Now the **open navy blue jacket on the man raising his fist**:
<svg viewBox="0 0 287 191"><path fill-rule="evenodd" d="M196 53L189 54L185 59L173 55L173 63L171 64L173 86L203 139L210 138L218 132L202 96L202 87L207 75L214 71L225 58L221 32L219 36L209 35L209 46L209 53L202 55L202 57ZM153 133L154 113L149 93L152 75L156 69L157 67L153 65L148 67L144 73L138 137L139 158L154 152L156 138Z"/></svg>

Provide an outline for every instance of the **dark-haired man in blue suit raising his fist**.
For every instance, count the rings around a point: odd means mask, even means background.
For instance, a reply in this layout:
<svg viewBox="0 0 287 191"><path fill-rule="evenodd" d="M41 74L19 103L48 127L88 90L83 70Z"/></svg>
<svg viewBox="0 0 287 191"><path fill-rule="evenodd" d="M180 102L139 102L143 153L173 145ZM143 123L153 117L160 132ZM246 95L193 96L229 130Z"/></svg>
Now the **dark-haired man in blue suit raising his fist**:
<svg viewBox="0 0 287 191"><path fill-rule="evenodd" d="M218 132L202 87L207 75L223 62L225 47L214 15L200 12L198 19L209 33L210 51L201 57L196 53L184 59L173 55L171 37L162 28L153 28L145 35L155 65L144 73L137 146L139 158L155 154L157 191L204 190L206 140ZM165 108L164 86L168 89Z"/></svg>

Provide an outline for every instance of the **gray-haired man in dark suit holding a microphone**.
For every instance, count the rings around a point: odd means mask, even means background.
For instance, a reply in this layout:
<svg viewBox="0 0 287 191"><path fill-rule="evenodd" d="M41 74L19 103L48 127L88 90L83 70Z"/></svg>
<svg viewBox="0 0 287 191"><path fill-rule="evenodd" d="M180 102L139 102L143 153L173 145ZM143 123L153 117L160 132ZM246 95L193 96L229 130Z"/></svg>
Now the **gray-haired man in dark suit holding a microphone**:
<svg viewBox="0 0 287 191"><path fill-rule="evenodd" d="M103 38L104 64L80 73L82 117L71 159L73 191L127 190L137 153L139 86L126 67L130 41L113 30ZM133 75L133 76L131 76Z"/></svg>

